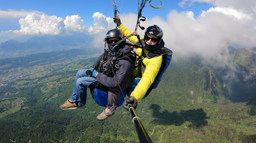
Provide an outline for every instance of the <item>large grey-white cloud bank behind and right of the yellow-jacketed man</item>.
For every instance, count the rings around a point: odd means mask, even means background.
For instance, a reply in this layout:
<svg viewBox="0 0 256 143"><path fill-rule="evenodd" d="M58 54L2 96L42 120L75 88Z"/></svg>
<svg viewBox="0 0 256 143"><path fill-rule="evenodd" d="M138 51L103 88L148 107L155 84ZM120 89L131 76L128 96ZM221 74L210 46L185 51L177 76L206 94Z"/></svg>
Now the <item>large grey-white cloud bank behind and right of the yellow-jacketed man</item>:
<svg viewBox="0 0 256 143"><path fill-rule="evenodd" d="M121 22L127 27L131 24L131 15L121 15ZM141 22L145 27L154 24L162 28L165 46L174 52L173 60L198 55L207 62L228 66L228 46L256 46L255 16L232 7L210 8L197 19L192 11L174 10L168 13L167 21L153 17ZM132 32L134 27L129 30Z"/></svg>

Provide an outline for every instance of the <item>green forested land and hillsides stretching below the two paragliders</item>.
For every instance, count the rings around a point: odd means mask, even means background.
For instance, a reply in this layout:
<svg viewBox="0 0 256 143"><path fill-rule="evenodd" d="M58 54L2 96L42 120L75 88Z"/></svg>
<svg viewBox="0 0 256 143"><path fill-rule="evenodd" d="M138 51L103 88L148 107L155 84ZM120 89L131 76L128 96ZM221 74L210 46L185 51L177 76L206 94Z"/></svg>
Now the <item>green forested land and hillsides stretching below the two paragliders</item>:
<svg viewBox="0 0 256 143"><path fill-rule="evenodd" d="M228 69L198 58L171 62L136 109L153 142L256 142L255 49L230 52L238 70L229 82ZM124 108L96 120L104 108L89 91L84 108L58 108L70 97L77 70L98 55L73 49L1 59L0 142L139 142Z"/></svg>

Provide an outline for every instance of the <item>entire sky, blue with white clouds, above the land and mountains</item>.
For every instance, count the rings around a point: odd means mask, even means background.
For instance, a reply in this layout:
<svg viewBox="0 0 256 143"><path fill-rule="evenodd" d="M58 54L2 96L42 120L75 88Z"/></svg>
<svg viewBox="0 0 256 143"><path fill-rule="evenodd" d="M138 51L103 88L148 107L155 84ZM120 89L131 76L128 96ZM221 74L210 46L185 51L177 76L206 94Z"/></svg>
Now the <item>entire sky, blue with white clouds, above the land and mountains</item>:
<svg viewBox="0 0 256 143"><path fill-rule="evenodd" d="M0 43L24 40L37 35L92 36L95 47L103 45L105 33L115 28L112 1L32 1L0 0ZM135 30L138 1L119 0L121 22ZM255 0L153 0L147 1L142 16L144 27L158 25L165 46L174 52L174 60L199 55L206 62L229 65L228 46L256 46ZM137 33L142 37L143 30ZM176 56L175 54L179 55Z"/></svg>

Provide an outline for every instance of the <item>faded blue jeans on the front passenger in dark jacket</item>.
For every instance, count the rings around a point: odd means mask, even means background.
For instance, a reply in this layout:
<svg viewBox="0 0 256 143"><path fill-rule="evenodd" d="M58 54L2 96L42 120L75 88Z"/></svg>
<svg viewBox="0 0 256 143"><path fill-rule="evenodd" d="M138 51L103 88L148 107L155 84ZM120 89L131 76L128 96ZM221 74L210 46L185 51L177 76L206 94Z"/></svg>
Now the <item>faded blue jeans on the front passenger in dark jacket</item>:
<svg viewBox="0 0 256 143"><path fill-rule="evenodd" d="M91 83L97 81L94 77L88 77L86 71L87 69L81 69L76 73L73 93L70 97L70 100L72 102L77 102L78 106L84 106L86 104L87 88Z"/></svg>

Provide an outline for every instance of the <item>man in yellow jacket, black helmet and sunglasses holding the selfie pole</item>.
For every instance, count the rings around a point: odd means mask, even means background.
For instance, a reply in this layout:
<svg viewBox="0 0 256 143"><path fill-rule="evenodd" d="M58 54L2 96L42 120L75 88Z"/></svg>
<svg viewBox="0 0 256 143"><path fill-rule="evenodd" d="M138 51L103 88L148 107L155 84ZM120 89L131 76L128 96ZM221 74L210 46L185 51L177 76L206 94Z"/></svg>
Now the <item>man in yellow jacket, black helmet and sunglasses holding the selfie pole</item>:
<svg viewBox="0 0 256 143"><path fill-rule="evenodd" d="M121 23L119 17L114 17L114 22L119 27L119 30L124 34L124 36L129 36L132 33ZM140 41L137 36L131 36L128 38L129 41L134 43L135 45L140 45L140 43L145 48L137 48L135 53L137 55L142 55L142 68L141 74L142 77L136 85L135 89L132 91L130 98L127 99L123 107L125 109L129 109L128 105L132 104L134 108L137 106L137 102L139 102L144 96L150 94L151 90L157 86L159 81L157 79L159 76L162 76L162 71L168 67L166 67L166 58L164 59L164 55L166 50L169 54L172 54L172 51L164 47L164 42L162 40L163 31L157 25L149 26L145 30L144 38L140 38ZM143 51L143 53L142 53ZM166 56L165 56L166 57ZM171 59L171 56L170 56ZM170 62L170 60L169 60ZM169 65L169 63L168 63ZM165 69L164 69L165 68ZM134 69L132 74L135 75L138 69ZM161 78L161 77L160 77Z"/></svg>

